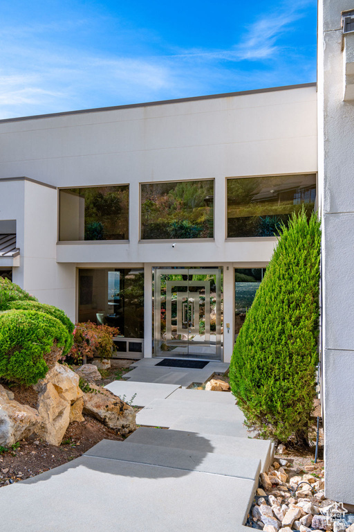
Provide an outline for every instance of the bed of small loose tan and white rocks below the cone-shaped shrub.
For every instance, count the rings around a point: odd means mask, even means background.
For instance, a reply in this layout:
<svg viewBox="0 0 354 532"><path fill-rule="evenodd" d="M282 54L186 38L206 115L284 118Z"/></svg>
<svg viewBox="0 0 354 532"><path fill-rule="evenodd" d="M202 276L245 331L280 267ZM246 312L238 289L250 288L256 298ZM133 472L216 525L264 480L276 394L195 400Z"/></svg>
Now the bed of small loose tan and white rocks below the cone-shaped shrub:
<svg viewBox="0 0 354 532"><path fill-rule="evenodd" d="M260 475L246 524L264 532L338 532L327 522L333 501L324 496L323 462L290 457L285 445L277 447L276 456L268 472Z"/></svg>

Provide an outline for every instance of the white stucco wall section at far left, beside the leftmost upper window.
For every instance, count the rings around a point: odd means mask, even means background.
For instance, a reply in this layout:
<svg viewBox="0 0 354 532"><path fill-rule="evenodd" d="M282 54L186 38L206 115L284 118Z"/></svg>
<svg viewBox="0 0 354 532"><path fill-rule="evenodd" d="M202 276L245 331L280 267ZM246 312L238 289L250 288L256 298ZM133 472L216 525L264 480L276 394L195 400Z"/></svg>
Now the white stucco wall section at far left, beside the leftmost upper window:
<svg viewBox="0 0 354 532"><path fill-rule="evenodd" d="M20 258L12 268L14 283L75 319L75 265L56 260L57 190L25 179L0 181L0 220L16 220Z"/></svg>

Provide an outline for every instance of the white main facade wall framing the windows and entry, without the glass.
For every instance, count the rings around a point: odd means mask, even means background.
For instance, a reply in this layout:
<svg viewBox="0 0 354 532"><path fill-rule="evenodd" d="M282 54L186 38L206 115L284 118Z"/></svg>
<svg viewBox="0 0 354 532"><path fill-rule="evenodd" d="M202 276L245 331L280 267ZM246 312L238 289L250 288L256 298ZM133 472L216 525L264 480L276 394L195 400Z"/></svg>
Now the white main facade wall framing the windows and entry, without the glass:
<svg viewBox="0 0 354 532"><path fill-rule="evenodd" d="M153 265L223 265L224 272L229 267L230 283L224 290L224 322L232 324L230 272L267 265L275 239L226 239L226 178L316 172L316 101L315 87L298 87L0 121L0 179L26 175L57 187L129 184L129 242L60 242L55 267L51 219L48 227L43 224L50 251L39 251L41 258L46 255L46 274L37 276L35 262L28 260L26 286L74 319L80 265L145 265L145 272ZM174 248L166 240L140 241L140 183L180 179L215 179L214 240L177 241ZM54 197L50 205L54 209ZM147 280L145 356L151 355L150 299ZM233 344L232 328L225 334L225 360Z"/></svg>

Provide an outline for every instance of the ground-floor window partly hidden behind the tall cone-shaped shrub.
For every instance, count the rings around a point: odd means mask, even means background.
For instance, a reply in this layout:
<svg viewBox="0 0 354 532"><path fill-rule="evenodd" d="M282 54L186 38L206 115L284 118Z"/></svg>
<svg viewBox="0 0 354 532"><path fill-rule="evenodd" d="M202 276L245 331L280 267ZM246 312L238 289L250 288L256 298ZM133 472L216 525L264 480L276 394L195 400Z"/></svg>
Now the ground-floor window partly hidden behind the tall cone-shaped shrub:
<svg viewBox="0 0 354 532"><path fill-rule="evenodd" d="M235 335L239 334L253 303L265 268L235 269Z"/></svg>

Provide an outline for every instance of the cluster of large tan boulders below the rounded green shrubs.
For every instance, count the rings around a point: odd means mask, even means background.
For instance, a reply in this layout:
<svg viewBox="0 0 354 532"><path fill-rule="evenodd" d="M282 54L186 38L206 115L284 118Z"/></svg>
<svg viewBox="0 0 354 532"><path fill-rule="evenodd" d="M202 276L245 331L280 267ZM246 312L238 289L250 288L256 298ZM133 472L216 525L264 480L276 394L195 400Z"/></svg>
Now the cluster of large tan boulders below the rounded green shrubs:
<svg viewBox="0 0 354 532"><path fill-rule="evenodd" d="M122 435L136 429L132 407L94 383L88 383L84 393L79 382L77 373L56 362L45 378L30 387L37 396L37 401L32 397L31 406L15 400L14 393L0 385L0 445L11 447L31 434L60 445L69 423L84 420L83 411Z"/></svg>

